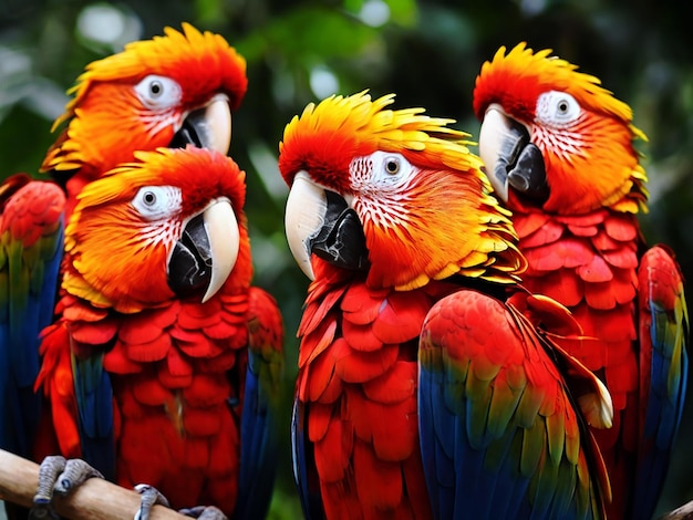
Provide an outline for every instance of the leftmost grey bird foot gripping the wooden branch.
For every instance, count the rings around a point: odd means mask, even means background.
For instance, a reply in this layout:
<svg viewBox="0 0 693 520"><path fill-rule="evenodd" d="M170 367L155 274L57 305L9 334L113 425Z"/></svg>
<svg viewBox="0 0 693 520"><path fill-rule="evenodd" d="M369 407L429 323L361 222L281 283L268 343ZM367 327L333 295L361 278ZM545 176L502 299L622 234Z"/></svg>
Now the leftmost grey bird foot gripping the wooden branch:
<svg viewBox="0 0 693 520"><path fill-rule="evenodd" d="M39 486L29 511L30 520L60 518L53 511L53 496L64 497L90 478L104 478L82 459L65 459L60 455L45 457L39 466Z"/></svg>

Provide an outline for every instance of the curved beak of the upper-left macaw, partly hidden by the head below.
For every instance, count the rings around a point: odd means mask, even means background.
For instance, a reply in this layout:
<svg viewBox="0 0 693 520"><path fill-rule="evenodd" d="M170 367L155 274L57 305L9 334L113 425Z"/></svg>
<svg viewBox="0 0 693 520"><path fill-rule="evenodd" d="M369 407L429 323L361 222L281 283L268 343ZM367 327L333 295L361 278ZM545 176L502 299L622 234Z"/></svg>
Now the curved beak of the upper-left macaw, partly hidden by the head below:
<svg viewBox="0 0 693 520"><path fill-rule="evenodd" d="M188 144L228 154L231 145L231 107L226 94L217 94L205 106L190 112L169 146L185 148Z"/></svg>

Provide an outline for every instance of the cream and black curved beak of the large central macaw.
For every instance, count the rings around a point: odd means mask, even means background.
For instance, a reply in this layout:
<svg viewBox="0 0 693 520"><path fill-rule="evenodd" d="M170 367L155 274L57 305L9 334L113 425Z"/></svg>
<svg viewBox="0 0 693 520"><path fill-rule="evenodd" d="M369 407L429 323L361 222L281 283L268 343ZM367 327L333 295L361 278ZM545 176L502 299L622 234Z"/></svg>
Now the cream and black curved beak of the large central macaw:
<svg viewBox="0 0 693 520"><path fill-rule="evenodd" d="M368 248L356 212L334 191L314 184L306 171L293 178L285 214L291 254L314 280L311 256L344 269L368 268Z"/></svg>

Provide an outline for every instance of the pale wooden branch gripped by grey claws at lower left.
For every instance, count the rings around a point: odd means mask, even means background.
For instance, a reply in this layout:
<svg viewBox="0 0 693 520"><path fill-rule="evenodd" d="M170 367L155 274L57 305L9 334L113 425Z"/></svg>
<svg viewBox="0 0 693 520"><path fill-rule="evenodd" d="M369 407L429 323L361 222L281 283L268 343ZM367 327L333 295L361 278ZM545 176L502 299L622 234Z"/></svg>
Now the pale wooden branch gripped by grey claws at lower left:
<svg viewBox="0 0 693 520"><path fill-rule="evenodd" d="M0 449L0 499L31 507L38 485L37 464ZM55 497L53 506L61 517L73 520L132 520L139 509L139 495L106 480L91 478L69 497ZM152 520L186 518L162 506L152 508Z"/></svg>

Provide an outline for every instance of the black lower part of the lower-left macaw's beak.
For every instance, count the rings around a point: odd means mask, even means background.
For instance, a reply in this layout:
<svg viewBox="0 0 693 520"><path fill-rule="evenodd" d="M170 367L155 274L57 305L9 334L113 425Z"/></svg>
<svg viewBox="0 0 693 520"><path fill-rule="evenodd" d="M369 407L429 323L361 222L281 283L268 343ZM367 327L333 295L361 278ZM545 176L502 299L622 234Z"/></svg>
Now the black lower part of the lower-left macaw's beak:
<svg viewBox="0 0 693 520"><path fill-rule="evenodd" d="M180 298L204 293L211 280L211 247L201 215L190 219L168 261L168 287Z"/></svg>

